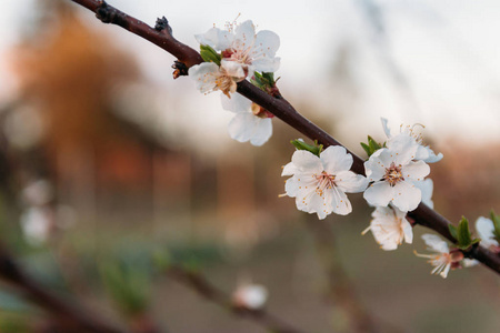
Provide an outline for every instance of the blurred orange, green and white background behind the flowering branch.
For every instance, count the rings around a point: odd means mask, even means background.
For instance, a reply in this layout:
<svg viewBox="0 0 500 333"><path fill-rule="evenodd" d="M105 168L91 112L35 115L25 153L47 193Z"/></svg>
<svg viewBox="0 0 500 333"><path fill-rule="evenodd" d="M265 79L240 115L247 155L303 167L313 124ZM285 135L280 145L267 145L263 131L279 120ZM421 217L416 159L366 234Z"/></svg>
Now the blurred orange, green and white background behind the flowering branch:
<svg viewBox="0 0 500 333"><path fill-rule="evenodd" d="M367 134L384 140L380 117L422 123L444 154L434 208L452 222L500 211L497 1L110 4L151 26L166 16L194 49L194 33L252 19L280 36L278 85L303 115L362 157ZM274 119L262 148L232 141L218 93L174 81L173 60L70 1L2 3L0 234L32 276L136 332L146 314L160 332L266 332L162 274L168 263L228 293L264 285L267 309L304 332L357 332L354 294L381 332L498 332L494 273L429 275L412 253L421 228L379 250L360 235L360 194L348 216L297 211L278 194L301 134ZM0 286L0 332L49 332L43 311Z"/></svg>

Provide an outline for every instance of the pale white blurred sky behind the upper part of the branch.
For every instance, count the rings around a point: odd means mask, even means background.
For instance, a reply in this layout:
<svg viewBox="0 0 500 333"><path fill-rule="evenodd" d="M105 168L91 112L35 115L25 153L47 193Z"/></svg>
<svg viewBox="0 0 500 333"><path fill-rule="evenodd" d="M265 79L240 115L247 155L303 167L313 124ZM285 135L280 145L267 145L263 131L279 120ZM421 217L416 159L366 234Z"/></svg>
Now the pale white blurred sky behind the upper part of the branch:
<svg viewBox="0 0 500 333"><path fill-rule="evenodd" d="M0 101L14 91L2 54L16 43L34 2L8 0L0 12ZM426 135L438 143L451 135L478 143L500 140L500 39L494 33L500 31L498 1L109 3L150 24L166 16L174 36L193 48L198 48L194 33L213 24L222 28L238 14L239 22L252 19L258 30L277 32L281 39L277 75L281 77L282 93L297 105L306 102L308 112L318 110L336 119L341 114L336 127L341 142L358 144L367 134L382 138L380 117L394 127L423 123ZM89 24L101 29L86 11L81 9ZM231 117L221 110L217 93L197 93L189 79L173 81L172 57L120 28L104 27L122 48L134 52L160 95L154 101L166 124L183 125L193 141L210 135L227 138L224 128ZM342 48L349 51L347 81L332 78ZM178 114L162 114L167 104L179 108Z"/></svg>

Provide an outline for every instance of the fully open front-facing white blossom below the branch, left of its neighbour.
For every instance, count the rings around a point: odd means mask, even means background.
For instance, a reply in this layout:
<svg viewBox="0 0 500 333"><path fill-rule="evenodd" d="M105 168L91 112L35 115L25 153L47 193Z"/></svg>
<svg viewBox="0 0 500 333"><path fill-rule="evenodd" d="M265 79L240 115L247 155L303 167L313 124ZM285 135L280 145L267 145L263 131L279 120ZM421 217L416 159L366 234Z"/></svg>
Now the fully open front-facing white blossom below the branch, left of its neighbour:
<svg viewBox="0 0 500 333"><path fill-rule="evenodd" d="M299 210L317 213L320 220L331 212L347 215L352 206L346 193L367 188L367 179L349 171L351 165L352 155L343 147L329 147L320 157L298 150L281 173L292 175L286 182L286 195L296 198Z"/></svg>

